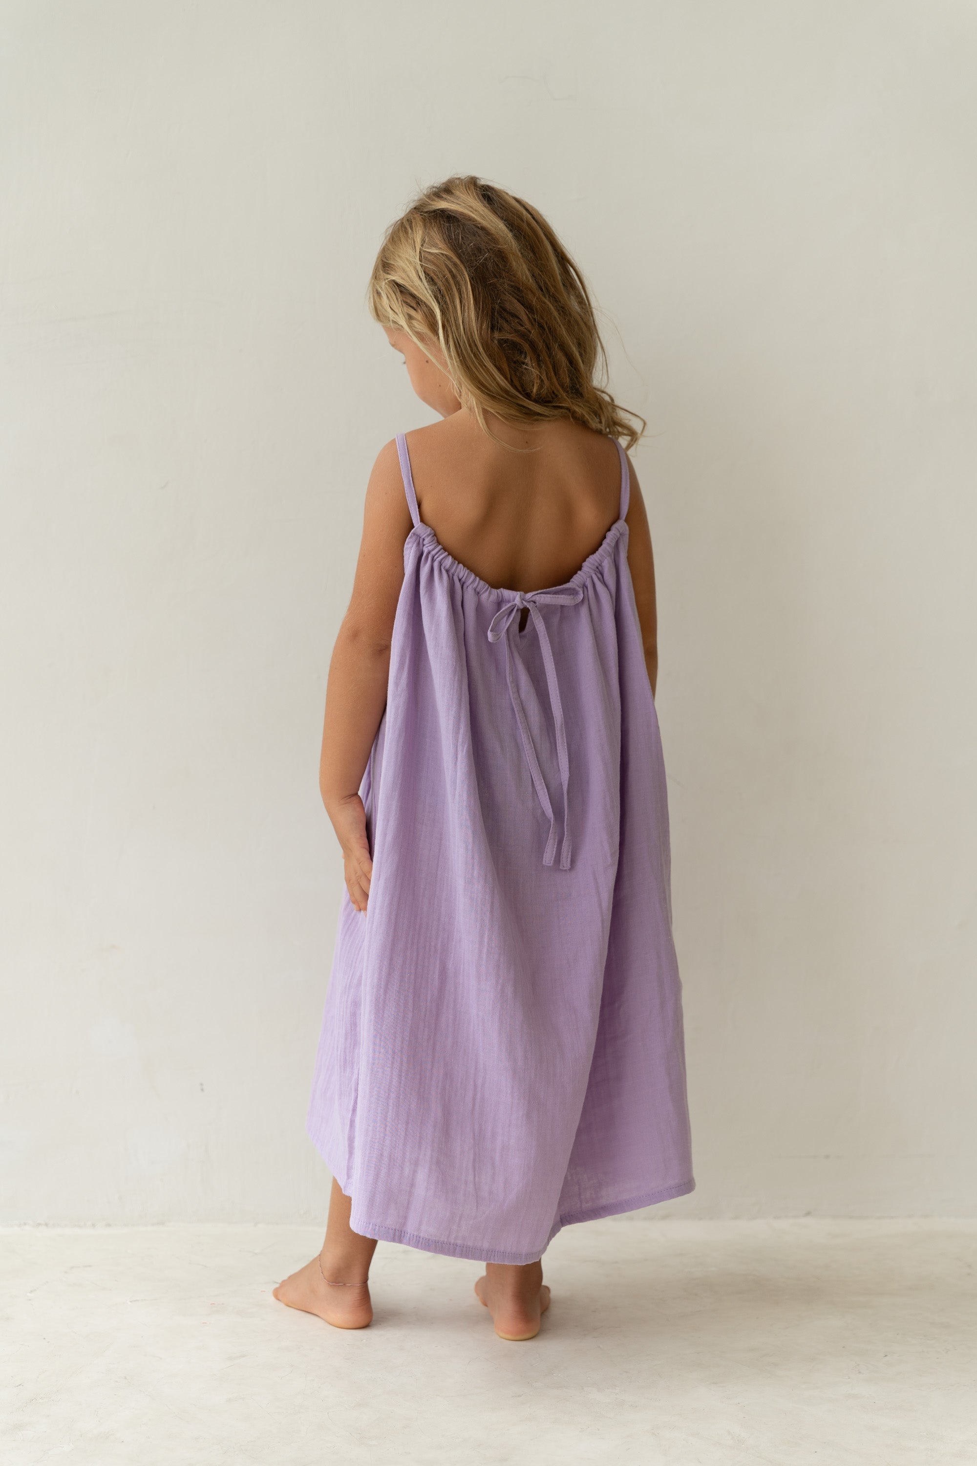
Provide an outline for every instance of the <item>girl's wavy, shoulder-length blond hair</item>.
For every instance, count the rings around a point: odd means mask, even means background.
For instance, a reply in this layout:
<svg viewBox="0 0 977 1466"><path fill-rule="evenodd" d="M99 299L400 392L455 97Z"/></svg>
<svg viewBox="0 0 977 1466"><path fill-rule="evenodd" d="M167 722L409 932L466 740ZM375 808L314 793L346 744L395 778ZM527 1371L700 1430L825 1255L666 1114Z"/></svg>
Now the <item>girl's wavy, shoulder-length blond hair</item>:
<svg viewBox="0 0 977 1466"><path fill-rule="evenodd" d="M450 177L413 201L384 236L368 299L381 325L422 350L437 342L485 432L486 412L511 424L571 418L628 449L644 431L603 386L606 353L577 265L532 204L485 179Z"/></svg>

